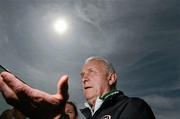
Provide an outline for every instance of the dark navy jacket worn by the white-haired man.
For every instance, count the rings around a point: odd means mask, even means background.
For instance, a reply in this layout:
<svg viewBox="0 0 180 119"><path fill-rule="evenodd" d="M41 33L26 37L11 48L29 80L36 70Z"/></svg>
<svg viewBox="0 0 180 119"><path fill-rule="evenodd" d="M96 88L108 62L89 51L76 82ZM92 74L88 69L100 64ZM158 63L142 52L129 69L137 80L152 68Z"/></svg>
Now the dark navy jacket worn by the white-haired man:
<svg viewBox="0 0 180 119"><path fill-rule="evenodd" d="M93 116L89 108L80 111L86 119L155 119L144 100L127 97L121 91L106 98Z"/></svg>

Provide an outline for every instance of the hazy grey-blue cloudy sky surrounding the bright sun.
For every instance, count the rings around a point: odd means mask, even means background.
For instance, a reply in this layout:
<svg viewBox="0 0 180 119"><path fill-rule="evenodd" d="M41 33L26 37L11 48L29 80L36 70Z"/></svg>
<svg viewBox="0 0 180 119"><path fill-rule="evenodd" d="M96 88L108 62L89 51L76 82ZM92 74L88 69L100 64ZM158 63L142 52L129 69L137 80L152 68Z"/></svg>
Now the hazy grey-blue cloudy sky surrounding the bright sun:
<svg viewBox="0 0 180 119"><path fill-rule="evenodd" d="M179 119L179 6L179 0L0 0L0 64L52 94L68 74L70 100L82 108L81 66L102 56L114 65L119 90L144 99L157 119ZM66 20L66 32L54 29L58 19ZM9 108L0 95L0 113Z"/></svg>

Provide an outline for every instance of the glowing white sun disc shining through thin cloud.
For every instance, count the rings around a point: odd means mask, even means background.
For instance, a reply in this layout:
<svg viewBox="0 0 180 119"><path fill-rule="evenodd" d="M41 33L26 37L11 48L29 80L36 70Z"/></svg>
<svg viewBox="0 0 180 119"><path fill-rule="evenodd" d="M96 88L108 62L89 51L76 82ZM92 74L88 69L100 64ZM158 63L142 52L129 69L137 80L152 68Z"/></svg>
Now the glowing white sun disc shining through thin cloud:
<svg viewBox="0 0 180 119"><path fill-rule="evenodd" d="M65 32L67 32L67 21L63 18L58 19L54 22L54 29L56 32L60 33L60 34L64 34Z"/></svg>

